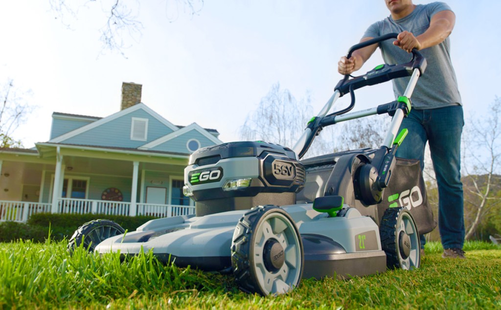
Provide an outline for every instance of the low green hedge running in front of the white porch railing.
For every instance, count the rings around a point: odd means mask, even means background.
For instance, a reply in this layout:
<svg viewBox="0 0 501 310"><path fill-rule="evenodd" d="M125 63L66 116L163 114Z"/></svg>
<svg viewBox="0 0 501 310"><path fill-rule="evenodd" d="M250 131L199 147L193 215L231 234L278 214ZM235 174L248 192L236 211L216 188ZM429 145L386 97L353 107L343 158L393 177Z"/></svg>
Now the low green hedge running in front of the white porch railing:
<svg viewBox="0 0 501 310"><path fill-rule="evenodd" d="M112 220L124 229L133 231L156 217L38 213L33 214L27 223L0 222L0 242L10 242L18 239L32 239L42 242L49 236L49 227L51 230L51 239L55 241L63 240L64 238L68 239L82 224L100 218Z"/></svg>

